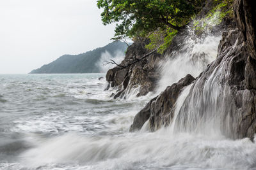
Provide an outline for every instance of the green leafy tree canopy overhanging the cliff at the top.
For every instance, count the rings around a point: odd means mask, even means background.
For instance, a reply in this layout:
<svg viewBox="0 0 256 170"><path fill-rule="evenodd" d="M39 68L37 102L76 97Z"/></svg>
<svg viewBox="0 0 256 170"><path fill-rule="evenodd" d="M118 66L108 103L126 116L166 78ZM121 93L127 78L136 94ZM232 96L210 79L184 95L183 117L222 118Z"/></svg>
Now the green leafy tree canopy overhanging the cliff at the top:
<svg viewBox="0 0 256 170"><path fill-rule="evenodd" d="M116 22L115 39L145 36L157 28L179 30L202 0L98 0L104 25Z"/></svg>

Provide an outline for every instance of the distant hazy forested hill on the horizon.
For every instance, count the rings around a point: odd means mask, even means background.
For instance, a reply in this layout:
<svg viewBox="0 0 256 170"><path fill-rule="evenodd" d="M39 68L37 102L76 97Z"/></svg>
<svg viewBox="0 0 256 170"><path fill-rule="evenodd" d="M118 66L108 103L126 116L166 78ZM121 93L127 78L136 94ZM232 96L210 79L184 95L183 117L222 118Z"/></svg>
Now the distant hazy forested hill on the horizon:
<svg viewBox="0 0 256 170"><path fill-rule="evenodd" d="M108 52L112 57L117 53L125 53L127 45L121 41L115 41L95 50L79 55L63 55L39 69L34 69L31 74L38 73L100 73L97 66L102 53Z"/></svg>

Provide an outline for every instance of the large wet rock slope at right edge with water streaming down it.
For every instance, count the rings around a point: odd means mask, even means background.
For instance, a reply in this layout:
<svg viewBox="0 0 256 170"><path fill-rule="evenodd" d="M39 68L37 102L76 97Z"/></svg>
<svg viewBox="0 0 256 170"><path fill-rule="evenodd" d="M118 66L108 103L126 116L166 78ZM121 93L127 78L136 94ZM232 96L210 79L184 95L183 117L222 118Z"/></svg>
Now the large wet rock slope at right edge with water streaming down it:
<svg viewBox="0 0 256 170"><path fill-rule="evenodd" d="M179 110L175 131L207 134L213 129L227 138L253 139L256 132L256 62L252 52L255 48L250 42L252 31L248 33L246 28L253 17L252 13L244 14L244 3L236 1L234 9L239 29L223 34L217 59L196 78ZM252 27L248 29L253 30Z"/></svg>

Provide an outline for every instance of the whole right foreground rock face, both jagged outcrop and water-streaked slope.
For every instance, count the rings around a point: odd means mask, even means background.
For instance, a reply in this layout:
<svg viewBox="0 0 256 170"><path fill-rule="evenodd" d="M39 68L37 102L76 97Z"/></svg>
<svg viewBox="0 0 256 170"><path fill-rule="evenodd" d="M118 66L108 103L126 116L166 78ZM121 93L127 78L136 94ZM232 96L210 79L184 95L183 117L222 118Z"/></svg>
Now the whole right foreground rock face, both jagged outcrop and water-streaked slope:
<svg viewBox="0 0 256 170"><path fill-rule="evenodd" d="M173 121L174 130L178 132L214 132L232 139L253 138L256 132L256 12L252 0L236 0L234 10L238 29L223 33L217 59L193 82L175 120L173 106L182 87L193 78L175 88L186 78L180 80L152 99L134 118L131 131L140 129L147 120L152 131Z"/></svg>

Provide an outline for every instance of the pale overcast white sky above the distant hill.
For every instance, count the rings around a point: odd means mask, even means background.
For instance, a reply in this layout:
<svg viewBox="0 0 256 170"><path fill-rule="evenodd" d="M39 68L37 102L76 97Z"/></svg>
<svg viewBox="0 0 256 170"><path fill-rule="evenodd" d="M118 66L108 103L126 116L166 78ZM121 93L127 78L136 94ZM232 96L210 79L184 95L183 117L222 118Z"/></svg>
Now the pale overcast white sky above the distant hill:
<svg viewBox="0 0 256 170"><path fill-rule="evenodd" d="M97 0L0 0L0 74L24 74L64 54L111 43Z"/></svg>

